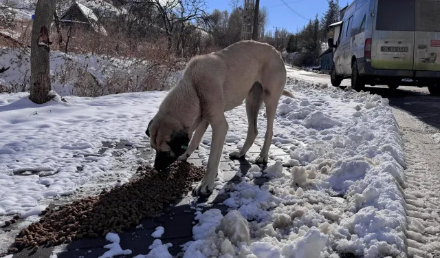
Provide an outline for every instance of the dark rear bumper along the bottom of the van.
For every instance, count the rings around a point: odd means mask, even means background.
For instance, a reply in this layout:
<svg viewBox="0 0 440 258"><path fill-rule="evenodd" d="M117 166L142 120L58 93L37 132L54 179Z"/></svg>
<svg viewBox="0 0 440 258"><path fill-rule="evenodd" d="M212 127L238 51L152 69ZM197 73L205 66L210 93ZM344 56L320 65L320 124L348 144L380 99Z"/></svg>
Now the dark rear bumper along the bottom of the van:
<svg viewBox="0 0 440 258"><path fill-rule="evenodd" d="M372 76L377 78L440 78L440 71L373 69L371 62L366 62L365 58L358 58L358 71L360 76Z"/></svg>

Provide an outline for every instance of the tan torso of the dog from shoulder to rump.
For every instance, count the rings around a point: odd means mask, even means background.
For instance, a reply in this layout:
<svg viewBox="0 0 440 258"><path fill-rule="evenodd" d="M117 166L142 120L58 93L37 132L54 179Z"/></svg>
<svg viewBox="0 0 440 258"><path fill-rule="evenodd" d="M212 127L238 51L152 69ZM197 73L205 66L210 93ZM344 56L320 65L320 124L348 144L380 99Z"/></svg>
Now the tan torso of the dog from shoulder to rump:
<svg viewBox="0 0 440 258"><path fill-rule="evenodd" d="M217 93L223 96L225 110L230 110L243 103L254 83L261 83L267 93L281 94L286 69L281 53L272 45L239 41L218 52L195 56L184 77L199 91L207 91L206 95L221 87Z"/></svg>

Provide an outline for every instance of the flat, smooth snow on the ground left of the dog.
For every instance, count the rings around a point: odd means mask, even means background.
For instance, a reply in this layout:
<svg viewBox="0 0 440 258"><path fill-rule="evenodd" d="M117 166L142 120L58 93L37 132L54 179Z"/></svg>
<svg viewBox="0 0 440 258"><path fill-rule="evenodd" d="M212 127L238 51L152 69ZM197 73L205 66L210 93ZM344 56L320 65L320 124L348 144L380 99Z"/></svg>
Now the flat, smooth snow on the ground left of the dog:
<svg viewBox="0 0 440 258"><path fill-rule="evenodd" d="M102 142L126 139L142 145L146 125L165 94L68 96L67 102L44 105L32 103L28 93L0 94L0 215L37 215L43 200L103 178L126 182L130 169L109 169L133 162L135 149L125 151L122 161L110 150L96 153Z"/></svg>

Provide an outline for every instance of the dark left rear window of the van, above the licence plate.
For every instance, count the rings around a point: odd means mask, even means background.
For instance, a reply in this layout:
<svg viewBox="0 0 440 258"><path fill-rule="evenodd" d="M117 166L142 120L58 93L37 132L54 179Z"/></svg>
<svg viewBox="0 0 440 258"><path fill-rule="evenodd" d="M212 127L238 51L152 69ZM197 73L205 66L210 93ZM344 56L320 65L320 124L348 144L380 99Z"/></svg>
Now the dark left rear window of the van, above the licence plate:
<svg viewBox="0 0 440 258"><path fill-rule="evenodd" d="M415 0L379 0L376 30L414 31Z"/></svg>

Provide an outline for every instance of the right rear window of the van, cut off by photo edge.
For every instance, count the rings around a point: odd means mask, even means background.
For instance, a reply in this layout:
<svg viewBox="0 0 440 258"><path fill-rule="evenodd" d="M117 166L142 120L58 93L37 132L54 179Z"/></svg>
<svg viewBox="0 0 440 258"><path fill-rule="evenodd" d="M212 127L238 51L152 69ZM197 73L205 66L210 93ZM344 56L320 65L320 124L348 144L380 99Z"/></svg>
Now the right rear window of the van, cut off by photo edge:
<svg viewBox="0 0 440 258"><path fill-rule="evenodd" d="M416 0L415 15L415 30L440 32L439 0Z"/></svg>

